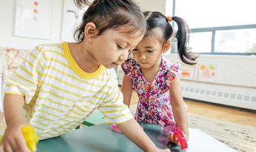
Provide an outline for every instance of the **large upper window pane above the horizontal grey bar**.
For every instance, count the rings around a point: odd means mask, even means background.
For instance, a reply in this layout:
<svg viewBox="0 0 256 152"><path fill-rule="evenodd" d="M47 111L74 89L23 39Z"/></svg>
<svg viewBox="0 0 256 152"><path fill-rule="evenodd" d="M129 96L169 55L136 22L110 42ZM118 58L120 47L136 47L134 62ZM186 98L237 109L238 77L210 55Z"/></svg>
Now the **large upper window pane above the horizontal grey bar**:
<svg viewBox="0 0 256 152"><path fill-rule="evenodd" d="M190 28L256 24L255 0L175 1L175 15L185 19Z"/></svg>

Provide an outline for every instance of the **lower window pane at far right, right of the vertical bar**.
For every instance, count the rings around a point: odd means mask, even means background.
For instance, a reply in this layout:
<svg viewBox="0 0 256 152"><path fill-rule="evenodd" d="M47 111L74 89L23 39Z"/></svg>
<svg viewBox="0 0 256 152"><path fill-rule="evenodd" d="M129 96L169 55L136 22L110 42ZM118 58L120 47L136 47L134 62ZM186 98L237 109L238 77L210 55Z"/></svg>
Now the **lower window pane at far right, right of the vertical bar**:
<svg viewBox="0 0 256 152"><path fill-rule="evenodd" d="M216 31L215 52L256 53L256 29Z"/></svg>

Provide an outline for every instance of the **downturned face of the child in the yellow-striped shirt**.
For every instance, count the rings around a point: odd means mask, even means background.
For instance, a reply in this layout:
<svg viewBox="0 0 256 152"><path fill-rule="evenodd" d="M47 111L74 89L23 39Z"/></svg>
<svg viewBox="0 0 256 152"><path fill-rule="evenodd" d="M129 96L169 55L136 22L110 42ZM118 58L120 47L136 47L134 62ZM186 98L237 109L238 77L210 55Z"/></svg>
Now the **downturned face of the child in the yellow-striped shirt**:
<svg viewBox="0 0 256 152"><path fill-rule="evenodd" d="M143 38L140 31L136 33L125 33L127 26L118 29L108 29L100 36L93 38L92 56L106 68L120 65L127 60L129 51L134 49Z"/></svg>

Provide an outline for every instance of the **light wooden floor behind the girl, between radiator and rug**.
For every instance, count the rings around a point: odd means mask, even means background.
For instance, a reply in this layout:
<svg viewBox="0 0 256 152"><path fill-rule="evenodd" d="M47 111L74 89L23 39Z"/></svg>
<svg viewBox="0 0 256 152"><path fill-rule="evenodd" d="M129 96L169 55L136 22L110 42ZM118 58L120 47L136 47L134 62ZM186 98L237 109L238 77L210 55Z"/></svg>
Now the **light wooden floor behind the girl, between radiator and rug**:
<svg viewBox="0 0 256 152"><path fill-rule="evenodd" d="M138 96L133 91L131 105L137 104L137 102ZM184 102L187 104L190 114L256 128L256 111L188 99L184 99Z"/></svg>

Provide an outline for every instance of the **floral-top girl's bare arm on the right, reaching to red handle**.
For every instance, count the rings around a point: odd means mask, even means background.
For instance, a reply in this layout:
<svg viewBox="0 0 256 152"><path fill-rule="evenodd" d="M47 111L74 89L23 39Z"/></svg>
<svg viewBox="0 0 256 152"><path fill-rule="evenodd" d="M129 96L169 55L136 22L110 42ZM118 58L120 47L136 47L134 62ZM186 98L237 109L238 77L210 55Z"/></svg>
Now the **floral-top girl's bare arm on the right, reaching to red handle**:
<svg viewBox="0 0 256 152"><path fill-rule="evenodd" d="M180 129L185 133L184 137L186 138L186 141L188 141L188 117L180 89L180 79L178 77L173 80L169 91L171 97L173 117L175 119L175 122L177 123L177 126L179 126Z"/></svg>

